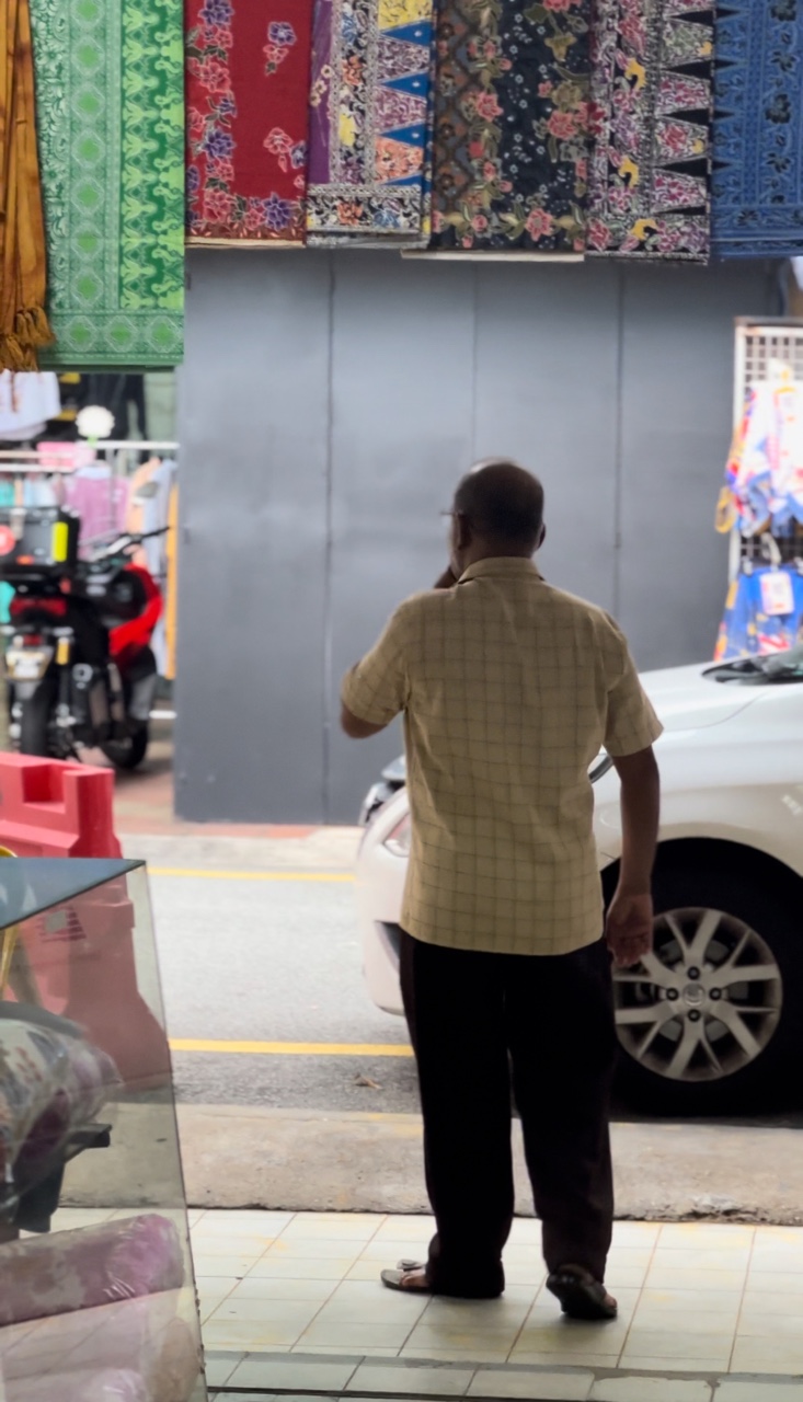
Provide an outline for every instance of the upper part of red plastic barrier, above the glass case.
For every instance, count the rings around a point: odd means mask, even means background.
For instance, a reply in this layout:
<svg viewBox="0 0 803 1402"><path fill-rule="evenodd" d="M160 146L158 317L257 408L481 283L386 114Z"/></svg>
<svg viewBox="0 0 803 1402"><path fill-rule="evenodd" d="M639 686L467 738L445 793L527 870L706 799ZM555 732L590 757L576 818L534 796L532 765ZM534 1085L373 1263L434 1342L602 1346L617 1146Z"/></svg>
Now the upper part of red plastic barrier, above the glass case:
<svg viewBox="0 0 803 1402"><path fill-rule="evenodd" d="M112 770L0 754L0 845L17 857L122 857Z"/></svg>

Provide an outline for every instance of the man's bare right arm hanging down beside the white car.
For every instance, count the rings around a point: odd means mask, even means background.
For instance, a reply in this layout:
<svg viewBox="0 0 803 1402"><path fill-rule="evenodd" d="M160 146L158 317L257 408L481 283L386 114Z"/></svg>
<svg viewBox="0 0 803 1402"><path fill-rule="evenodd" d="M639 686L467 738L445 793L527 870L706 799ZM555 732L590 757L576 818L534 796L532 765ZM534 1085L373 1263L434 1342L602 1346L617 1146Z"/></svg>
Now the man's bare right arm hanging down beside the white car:
<svg viewBox="0 0 803 1402"><path fill-rule="evenodd" d="M605 938L619 969L639 963L653 948L652 873L660 819L660 775L652 744L614 757L622 785L622 862L608 910Z"/></svg>

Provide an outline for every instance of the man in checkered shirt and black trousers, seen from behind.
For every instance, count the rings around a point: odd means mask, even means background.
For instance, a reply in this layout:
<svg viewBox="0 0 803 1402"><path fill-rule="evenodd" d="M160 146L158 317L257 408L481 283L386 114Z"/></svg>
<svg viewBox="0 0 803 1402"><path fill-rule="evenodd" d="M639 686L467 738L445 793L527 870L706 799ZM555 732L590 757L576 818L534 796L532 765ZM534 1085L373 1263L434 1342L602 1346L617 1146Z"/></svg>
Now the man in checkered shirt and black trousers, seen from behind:
<svg viewBox="0 0 803 1402"><path fill-rule="evenodd" d="M426 1263L383 1281L502 1294L512 1071L548 1287L568 1315L610 1319L611 956L628 967L652 948L661 728L612 618L538 573L544 536L535 477L471 471L450 568L343 681L353 739L404 712L412 816L401 974L437 1232ZM589 781L603 746L624 833L604 938Z"/></svg>

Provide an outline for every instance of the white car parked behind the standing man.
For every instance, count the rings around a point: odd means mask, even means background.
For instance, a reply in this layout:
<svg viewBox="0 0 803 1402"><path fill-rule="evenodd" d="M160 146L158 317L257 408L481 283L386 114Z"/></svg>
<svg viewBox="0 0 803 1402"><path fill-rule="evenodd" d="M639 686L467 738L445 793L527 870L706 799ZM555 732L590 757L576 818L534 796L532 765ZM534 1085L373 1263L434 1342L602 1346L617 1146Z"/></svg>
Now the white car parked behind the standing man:
<svg viewBox="0 0 803 1402"><path fill-rule="evenodd" d="M803 648L642 681L666 726L663 806L654 953L615 979L622 1082L659 1113L746 1109L800 1084ZM622 837L605 756L591 780L610 899ZM363 809L357 890L369 990L380 1008L401 1014L404 768L391 767L383 784ZM583 1035L570 1008L566 1035Z"/></svg>

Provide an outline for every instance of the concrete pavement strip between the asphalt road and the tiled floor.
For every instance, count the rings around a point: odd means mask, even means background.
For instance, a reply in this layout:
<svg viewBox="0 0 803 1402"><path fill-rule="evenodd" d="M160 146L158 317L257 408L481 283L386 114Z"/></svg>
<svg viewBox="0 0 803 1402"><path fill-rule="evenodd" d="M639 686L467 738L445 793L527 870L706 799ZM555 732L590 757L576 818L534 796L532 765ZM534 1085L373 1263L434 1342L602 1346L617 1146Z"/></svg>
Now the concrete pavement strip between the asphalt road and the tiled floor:
<svg viewBox="0 0 803 1402"><path fill-rule="evenodd" d="M104 1151L104 1202L147 1207L178 1182L164 1101L123 1103ZM426 1213L415 1115L179 1105L186 1193L193 1207ZM70 1165L64 1206L97 1200L92 1155ZM517 1213L533 1216L514 1126ZM803 1225L800 1134L727 1124L614 1126L617 1216Z"/></svg>

